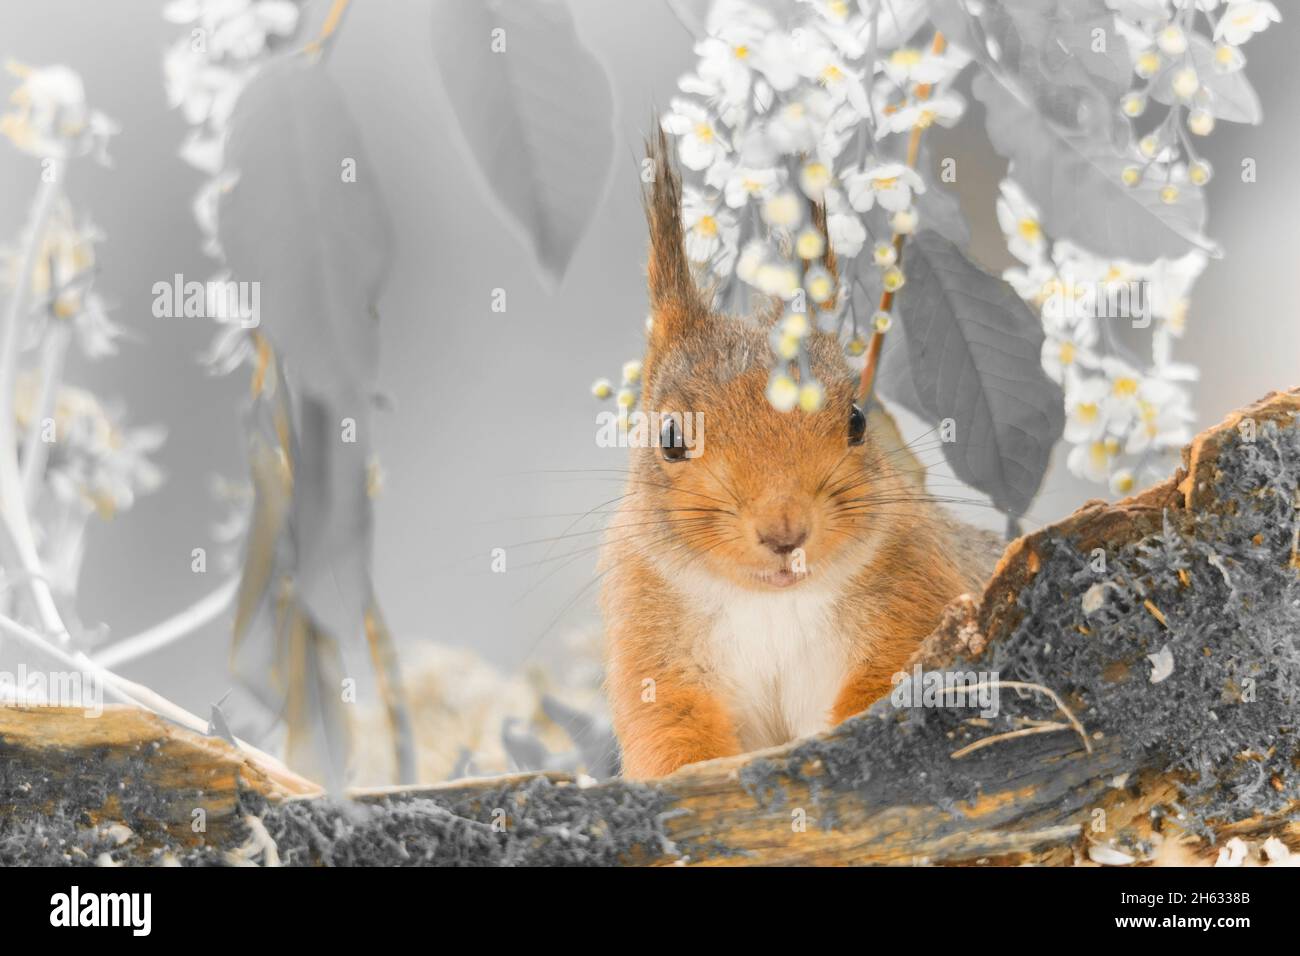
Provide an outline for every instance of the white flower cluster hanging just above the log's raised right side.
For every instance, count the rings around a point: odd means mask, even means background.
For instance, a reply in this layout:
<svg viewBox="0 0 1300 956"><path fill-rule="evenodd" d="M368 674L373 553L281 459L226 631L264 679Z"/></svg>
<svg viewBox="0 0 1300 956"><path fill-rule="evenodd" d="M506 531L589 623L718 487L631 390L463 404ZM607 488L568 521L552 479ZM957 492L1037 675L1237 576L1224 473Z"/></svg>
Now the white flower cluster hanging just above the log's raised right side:
<svg viewBox="0 0 1300 956"><path fill-rule="evenodd" d="M1188 293L1205 255L1131 263L1066 239L1049 241L1039 212L1004 179L997 220L1022 265L1004 278L1043 319L1043 368L1065 389L1067 467L1117 494L1164 477L1162 453L1191 440L1196 369L1171 358L1187 324ZM1119 323L1152 330L1150 360L1131 352Z"/></svg>

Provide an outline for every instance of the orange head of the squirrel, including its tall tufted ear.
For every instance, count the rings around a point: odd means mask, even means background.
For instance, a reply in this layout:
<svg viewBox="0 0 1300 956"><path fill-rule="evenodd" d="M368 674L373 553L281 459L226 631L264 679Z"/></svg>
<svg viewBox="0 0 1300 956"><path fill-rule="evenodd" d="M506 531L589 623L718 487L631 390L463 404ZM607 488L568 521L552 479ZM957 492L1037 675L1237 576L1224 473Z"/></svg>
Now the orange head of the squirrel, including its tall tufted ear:
<svg viewBox="0 0 1300 956"><path fill-rule="evenodd" d="M681 228L680 181L660 137L650 224L651 321L634 442L630 514L638 545L666 570L768 591L861 568L904 492L888 449L855 405L857 375L836 336L807 339L822 407L767 398L768 320L718 315L697 289Z"/></svg>

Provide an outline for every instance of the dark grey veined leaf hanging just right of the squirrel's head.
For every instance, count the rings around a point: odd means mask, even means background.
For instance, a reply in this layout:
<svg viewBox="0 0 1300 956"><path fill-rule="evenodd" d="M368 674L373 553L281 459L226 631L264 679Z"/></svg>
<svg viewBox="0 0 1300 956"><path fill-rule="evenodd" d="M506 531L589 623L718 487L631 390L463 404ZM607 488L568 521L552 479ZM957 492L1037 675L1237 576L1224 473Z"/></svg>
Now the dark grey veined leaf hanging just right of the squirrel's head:
<svg viewBox="0 0 1300 956"><path fill-rule="evenodd" d="M1011 286L935 232L911 239L904 271L898 313L918 399L931 420L957 425L944 457L1023 515L1065 427L1063 395L1040 364L1043 329Z"/></svg>

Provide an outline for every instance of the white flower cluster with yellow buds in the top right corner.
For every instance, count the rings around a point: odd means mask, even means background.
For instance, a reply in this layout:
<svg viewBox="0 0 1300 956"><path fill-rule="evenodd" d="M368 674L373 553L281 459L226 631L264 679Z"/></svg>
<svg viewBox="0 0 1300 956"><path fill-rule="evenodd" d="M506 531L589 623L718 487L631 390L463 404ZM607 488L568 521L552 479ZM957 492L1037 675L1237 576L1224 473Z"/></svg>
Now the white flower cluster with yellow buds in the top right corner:
<svg viewBox="0 0 1300 956"><path fill-rule="evenodd" d="M1204 186L1214 173L1192 137L1209 135L1217 118L1257 121L1254 91L1240 74L1242 44L1282 17L1264 0L1108 0L1108 5L1138 77L1121 111L1138 120L1153 100L1169 107L1161 120L1145 124L1134 161L1121 176L1128 186L1162 183L1161 200L1176 203L1183 183ZM1197 29L1202 25L1208 33Z"/></svg>

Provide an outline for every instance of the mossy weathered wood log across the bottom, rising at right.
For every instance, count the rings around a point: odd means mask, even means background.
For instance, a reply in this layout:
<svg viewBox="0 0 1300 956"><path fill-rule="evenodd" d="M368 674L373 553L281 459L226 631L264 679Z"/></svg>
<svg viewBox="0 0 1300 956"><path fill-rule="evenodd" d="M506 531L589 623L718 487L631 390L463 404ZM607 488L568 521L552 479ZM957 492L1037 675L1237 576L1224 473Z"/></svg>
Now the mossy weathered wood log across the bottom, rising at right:
<svg viewBox="0 0 1300 956"><path fill-rule="evenodd" d="M1204 432L1170 480L1014 541L890 698L649 783L521 774L338 801L139 710L0 708L0 864L1141 865L1232 836L1295 848L1297 480L1294 389ZM996 691L996 713L957 706L958 678L985 705Z"/></svg>

